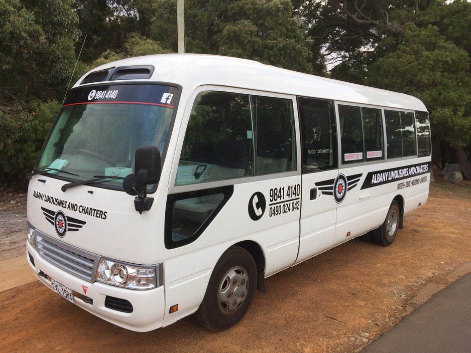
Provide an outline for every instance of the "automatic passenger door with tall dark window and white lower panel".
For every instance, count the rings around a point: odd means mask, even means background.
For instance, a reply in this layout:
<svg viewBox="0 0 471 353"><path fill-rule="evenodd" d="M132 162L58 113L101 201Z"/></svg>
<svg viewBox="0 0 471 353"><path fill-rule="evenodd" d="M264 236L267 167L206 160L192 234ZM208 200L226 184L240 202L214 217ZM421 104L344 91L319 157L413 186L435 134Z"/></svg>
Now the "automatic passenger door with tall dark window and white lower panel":
<svg viewBox="0 0 471 353"><path fill-rule="evenodd" d="M300 242L296 263L333 246L337 131L333 102L298 98L302 143Z"/></svg>

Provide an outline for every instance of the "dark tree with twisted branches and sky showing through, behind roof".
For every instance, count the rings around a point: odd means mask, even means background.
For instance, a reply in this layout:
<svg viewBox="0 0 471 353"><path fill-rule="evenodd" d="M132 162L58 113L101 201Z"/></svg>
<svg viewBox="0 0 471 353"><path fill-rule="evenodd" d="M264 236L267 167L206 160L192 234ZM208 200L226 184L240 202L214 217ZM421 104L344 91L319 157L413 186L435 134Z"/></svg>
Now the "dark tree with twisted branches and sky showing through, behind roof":
<svg viewBox="0 0 471 353"><path fill-rule="evenodd" d="M335 65L331 77L355 83L364 83L368 67L397 49L404 25L434 4L442 1L295 0L309 28L313 53Z"/></svg>

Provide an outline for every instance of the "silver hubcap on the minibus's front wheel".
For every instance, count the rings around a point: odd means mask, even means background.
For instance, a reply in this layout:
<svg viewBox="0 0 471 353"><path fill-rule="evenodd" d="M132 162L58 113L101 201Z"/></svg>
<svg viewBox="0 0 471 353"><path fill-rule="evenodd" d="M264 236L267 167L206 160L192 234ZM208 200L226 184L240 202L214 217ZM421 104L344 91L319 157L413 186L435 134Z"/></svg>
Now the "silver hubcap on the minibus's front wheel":
<svg viewBox="0 0 471 353"><path fill-rule="evenodd" d="M217 291L217 306L224 314L237 311L248 293L249 276L242 266L234 266L222 277Z"/></svg>

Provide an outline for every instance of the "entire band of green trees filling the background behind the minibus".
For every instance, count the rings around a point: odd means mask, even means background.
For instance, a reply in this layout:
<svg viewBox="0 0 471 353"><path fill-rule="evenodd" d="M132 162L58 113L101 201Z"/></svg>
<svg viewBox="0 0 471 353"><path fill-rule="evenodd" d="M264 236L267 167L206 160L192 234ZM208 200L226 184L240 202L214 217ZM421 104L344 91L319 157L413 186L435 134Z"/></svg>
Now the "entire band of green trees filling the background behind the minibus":
<svg viewBox="0 0 471 353"><path fill-rule="evenodd" d="M177 51L176 4L0 0L0 184L23 183L69 81ZM417 96L434 136L471 144L468 1L185 0L185 46L317 74L336 61L330 77Z"/></svg>

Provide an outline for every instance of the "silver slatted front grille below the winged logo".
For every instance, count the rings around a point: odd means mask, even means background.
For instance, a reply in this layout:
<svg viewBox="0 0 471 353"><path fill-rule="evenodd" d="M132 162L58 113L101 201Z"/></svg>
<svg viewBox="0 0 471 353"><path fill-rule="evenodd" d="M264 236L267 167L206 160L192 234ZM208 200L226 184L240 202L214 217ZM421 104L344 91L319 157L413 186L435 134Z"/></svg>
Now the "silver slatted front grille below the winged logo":
<svg viewBox="0 0 471 353"><path fill-rule="evenodd" d="M39 255L75 276L93 282L99 256L55 240L36 230Z"/></svg>

